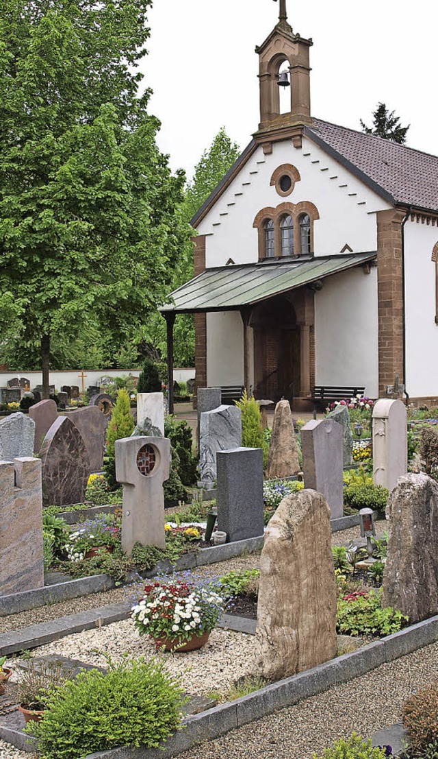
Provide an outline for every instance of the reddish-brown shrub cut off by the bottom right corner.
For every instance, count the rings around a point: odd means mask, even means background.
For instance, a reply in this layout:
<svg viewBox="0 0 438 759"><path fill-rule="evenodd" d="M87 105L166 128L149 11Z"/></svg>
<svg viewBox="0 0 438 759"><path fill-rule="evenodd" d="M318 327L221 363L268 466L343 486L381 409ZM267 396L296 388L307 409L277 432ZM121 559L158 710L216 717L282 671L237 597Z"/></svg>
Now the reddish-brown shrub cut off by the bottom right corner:
<svg viewBox="0 0 438 759"><path fill-rule="evenodd" d="M424 688L406 701L403 725L408 730L412 756L438 756L438 688Z"/></svg>

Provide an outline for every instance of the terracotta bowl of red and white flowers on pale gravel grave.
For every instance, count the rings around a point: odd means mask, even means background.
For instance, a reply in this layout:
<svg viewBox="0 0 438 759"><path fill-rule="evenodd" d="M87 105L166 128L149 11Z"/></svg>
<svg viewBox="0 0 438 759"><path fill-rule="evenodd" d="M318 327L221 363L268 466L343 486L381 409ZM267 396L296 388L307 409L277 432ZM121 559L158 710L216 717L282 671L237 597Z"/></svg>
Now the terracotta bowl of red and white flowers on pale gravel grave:
<svg viewBox="0 0 438 759"><path fill-rule="evenodd" d="M166 651L192 651L204 646L224 611L220 586L187 580L180 575L162 578L145 587L132 607L131 617L140 635L149 635Z"/></svg>

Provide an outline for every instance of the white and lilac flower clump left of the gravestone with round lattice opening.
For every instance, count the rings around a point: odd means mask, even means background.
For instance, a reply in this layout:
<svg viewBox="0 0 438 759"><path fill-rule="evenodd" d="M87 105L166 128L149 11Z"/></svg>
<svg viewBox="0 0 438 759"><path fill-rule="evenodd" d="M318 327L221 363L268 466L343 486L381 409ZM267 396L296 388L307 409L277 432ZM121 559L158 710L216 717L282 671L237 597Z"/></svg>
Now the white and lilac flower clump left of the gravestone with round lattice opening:
<svg viewBox="0 0 438 759"><path fill-rule="evenodd" d="M100 553L112 553L120 542L120 525L111 516L89 519L76 531L70 533L65 546L70 562L92 559Z"/></svg>

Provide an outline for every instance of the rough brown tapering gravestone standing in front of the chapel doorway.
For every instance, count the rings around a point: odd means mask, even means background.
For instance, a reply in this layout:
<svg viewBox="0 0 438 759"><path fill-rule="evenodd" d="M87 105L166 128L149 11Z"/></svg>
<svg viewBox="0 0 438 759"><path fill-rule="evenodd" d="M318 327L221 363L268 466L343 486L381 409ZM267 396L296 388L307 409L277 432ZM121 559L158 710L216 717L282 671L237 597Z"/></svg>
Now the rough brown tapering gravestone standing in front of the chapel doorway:
<svg viewBox="0 0 438 759"><path fill-rule="evenodd" d="M274 411L267 477L293 477L300 471L298 447L289 401L279 401Z"/></svg>

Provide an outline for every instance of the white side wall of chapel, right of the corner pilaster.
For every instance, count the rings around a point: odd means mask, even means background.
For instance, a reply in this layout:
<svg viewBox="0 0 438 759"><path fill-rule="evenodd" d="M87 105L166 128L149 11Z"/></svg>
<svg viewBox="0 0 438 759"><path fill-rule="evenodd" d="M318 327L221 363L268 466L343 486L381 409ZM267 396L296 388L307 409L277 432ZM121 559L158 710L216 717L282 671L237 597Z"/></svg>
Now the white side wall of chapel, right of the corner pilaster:
<svg viewBox="0 0 438 759"><path fill-rule="evenodd" d="M438 226L405 224L406 390L411 398L438 395L433 246Z"/></svg>

